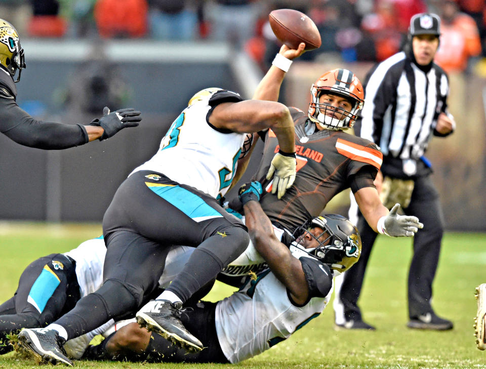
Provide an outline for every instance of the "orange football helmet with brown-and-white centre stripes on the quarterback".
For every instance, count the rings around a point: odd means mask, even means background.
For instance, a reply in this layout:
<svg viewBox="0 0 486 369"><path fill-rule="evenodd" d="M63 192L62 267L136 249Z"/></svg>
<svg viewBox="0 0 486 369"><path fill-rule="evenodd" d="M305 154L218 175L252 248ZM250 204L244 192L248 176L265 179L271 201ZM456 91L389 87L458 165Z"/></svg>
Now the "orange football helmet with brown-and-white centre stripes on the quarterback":
<svg viewBox="0 0 486 369"><path fill-rule="evenodd" d="M309 118L319 129L342 131L353 127L365 102L361 82L348 69L333 69L322 74L310 92Z"/></svg>

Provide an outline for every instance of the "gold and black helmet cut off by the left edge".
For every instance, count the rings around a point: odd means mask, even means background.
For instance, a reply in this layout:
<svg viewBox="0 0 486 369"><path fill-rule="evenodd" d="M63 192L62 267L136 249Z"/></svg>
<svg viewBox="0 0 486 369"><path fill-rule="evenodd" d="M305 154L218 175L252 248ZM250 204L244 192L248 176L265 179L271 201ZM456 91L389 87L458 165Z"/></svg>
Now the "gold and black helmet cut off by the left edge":
<svg viewBox="0 0 486 369"><path fill-rule="evenodd" d="M0 19L0 64L7 69L12 78L17 70L15 82L20 80L20 73L25 68L24 49L20 46L19 35L12 24Z"/></svg>

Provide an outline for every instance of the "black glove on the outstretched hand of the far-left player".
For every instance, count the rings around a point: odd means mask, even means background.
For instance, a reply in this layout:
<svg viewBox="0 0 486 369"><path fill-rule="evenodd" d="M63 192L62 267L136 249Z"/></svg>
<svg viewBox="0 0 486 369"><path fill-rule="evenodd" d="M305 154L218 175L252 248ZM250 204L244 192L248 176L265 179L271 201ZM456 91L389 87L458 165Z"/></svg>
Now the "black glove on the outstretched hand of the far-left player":
<svg viewBox="0 0 486 369"><path fill-rule="evenodd" d="M137 127L138 122L142 120L140 111L133 108L119 109L110 113L110 109L103 108L103 116L99 119L93 119L90 126L103 128L105 132L100 137L100 141L114 136L118 131L127 127Z"/></svg>

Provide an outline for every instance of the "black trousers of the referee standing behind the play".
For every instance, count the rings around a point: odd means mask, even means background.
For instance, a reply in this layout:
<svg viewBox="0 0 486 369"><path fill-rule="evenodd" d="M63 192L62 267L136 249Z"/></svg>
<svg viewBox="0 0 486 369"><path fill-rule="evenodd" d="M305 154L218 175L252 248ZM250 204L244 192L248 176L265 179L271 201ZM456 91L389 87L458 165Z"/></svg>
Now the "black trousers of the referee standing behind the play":
<svg viewBox="0 0 486 369"><path fill-rule="evenodd" d="M408 280L409 317L412 318L432 312L430 305L432 282L437 270L444 228L438 193L430 176L416 180L409 207L403 211L407 215L416 216L424 225L424 228L419 229L413 238L414 254ZM368 225L361 213L358 215L357 228L362 241L361 256L357 263L344 273L340 291L344 316L346 320L355 321L362 319L357 301L361 293L368 259L378 235Z"/></svg>

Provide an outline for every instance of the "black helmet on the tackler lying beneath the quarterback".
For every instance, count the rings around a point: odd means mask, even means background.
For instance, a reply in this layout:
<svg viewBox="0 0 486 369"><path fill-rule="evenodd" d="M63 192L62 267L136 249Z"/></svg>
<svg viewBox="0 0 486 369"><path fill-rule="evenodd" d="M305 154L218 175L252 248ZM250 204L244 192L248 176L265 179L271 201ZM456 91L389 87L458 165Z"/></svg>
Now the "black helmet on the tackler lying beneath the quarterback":
<svg viewBox="0 0 486 369"><path fill-rule="evenodd" d="M321 228L322 233L314 236L309 232L314 227ZM301 244L305 234L314 238L319 246L306 249ZM293 237L295 241L290 245L291 252L298 251L299 254L305 252L340 273L349 269L361 255L361 237L358 230L341 215L327 214L312 218L298 227Z"/></svg>

